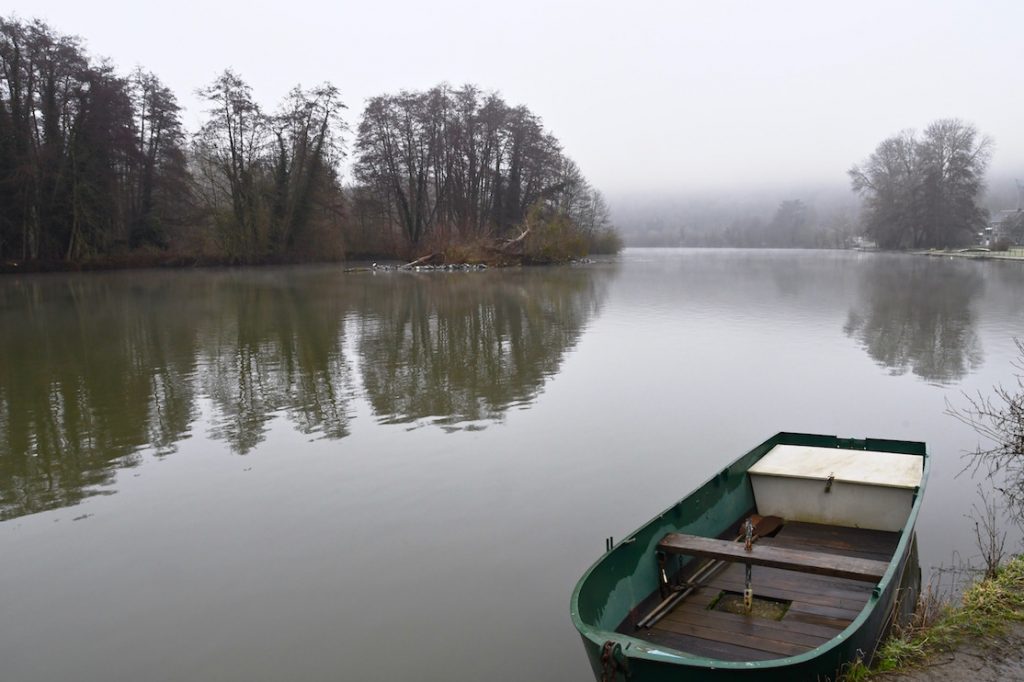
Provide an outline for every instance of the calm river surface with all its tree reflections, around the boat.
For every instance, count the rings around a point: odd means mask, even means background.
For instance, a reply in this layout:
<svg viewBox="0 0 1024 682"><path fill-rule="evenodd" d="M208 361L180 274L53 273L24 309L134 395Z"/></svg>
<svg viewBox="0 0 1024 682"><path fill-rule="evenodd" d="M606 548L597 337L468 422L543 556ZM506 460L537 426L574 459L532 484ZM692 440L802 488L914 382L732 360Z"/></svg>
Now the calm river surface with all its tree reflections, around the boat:
<svg viewBox="0 0 1024 682"><path fill-rule="evenodd" d="M6 276L0 678L582 682L604 539L781 430L926 440L923 565L970 558L946 401L1013 380L1022 293L796 251Z"/></svg>

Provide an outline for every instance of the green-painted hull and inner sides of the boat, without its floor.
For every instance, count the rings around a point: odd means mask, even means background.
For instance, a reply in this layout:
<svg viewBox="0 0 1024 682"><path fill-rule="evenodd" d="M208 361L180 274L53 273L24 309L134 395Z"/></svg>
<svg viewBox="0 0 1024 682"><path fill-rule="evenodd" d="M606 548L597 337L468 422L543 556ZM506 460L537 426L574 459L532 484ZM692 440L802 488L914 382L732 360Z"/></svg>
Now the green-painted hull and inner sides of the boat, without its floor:
<svg viewBox="0 0 1024 682"><path fill-rule="evenodd" d="M868 450L922 458L923 476L889 568L867 604L846 630L827 643L784 658L734 662L687 654L616 633L614 630L644 597L657 589L655 547L667 532L717 537L754 508L746 471L776 444ZM869 658L887 627L900 588L920 589L913 528L921 508L929 460L925 443L907 440L852 439L806 433L778 433L689 496L665 510L606 552L584 573L572 591L572 623L583 637L595 678L601 679L601 648L616 642L628 660L631 682L700 680L826 680L857 657ZM685 561L685 559L683 559ZM620 677L620 679L623 679Z"/></svg>

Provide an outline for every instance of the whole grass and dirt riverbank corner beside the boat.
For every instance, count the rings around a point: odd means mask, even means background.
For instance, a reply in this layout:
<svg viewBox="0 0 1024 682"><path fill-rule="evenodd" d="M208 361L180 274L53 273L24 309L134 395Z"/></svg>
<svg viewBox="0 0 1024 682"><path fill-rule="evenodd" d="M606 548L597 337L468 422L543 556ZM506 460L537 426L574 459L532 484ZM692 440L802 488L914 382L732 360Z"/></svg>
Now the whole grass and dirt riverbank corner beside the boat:
<svg viewBox="0 0 1024 682"><path fill-rule="evenodd" d="M919 615L923 623L879 648L870 670L857 666L845 681L1024 679L1024 555L969 588L958 605L926 606Z"/></svg>

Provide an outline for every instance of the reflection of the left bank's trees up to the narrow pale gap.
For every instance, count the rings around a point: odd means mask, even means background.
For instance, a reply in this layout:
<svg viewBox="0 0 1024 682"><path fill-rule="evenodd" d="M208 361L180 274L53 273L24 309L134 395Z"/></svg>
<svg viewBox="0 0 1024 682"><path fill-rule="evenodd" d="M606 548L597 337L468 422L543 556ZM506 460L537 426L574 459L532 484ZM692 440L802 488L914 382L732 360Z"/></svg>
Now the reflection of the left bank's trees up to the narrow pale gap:
<svg viewBox="0 0 1024 682"><path fill-rule="evenodd" d="M336 284L336 283L335 283ZM101 492L138 452L172 453L200 398L238 453L287 415L348 433L336 286L272 276L45 278L0 288L0 519Z"/></svg>

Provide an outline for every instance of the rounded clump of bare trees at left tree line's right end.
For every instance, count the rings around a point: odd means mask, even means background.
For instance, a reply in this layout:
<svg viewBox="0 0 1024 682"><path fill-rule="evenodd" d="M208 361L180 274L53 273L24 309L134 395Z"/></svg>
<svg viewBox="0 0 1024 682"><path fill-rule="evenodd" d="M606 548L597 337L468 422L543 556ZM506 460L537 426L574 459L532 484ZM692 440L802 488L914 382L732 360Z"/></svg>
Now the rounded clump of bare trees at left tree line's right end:
<svg viewBox="0 0 1024 682"><path fill-rule="evenodd" d="M446 84L370 100L356 177L388 207L408 244L428 236L506 237L532 207L578 228L609 228L607 207L536 114Z"/></svg>

